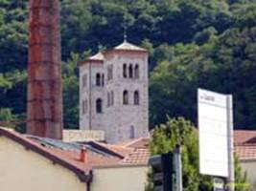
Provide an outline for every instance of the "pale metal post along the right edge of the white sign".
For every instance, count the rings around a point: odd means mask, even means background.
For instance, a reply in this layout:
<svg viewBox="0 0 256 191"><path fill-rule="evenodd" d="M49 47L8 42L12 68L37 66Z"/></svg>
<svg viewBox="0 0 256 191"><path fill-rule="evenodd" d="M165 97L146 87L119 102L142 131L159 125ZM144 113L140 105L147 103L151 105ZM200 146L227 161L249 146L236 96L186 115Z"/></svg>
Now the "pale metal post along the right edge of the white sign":
<svg viewBox="0 0 256 191"><path fill-rule="evenodd" d="M232 96L227 96L227 145L228 145L228 191L235 190L235 171L233 156L233 102Z"/></svg>

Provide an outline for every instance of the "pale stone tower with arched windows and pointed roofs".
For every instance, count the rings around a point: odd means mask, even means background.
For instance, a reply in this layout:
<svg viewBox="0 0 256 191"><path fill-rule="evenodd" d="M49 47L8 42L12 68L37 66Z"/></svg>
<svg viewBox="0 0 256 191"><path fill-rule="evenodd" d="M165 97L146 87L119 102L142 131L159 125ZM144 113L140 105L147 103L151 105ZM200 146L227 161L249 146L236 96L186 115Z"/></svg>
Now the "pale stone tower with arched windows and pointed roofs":
<svg viewBox="0 0 256 191"><path fill-rule="evenodd" d="M127 41L80 67L80 129L103 130L107 142L148 136L148 52Z"/></svg>

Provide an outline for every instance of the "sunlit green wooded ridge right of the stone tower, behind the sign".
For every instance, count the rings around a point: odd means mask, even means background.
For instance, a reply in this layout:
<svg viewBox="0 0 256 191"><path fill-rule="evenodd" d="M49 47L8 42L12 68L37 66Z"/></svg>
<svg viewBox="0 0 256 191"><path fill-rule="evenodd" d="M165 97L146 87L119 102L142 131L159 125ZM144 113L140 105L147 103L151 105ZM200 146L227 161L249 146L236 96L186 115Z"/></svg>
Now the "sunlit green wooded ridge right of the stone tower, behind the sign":
<svg viewBox="0 0 256 191"><path fill-rule="evenodd" d="M151 73L152 125L165 121L166 115L196 122L196 95L201 87L232 94L235 127L253 128L255 34L255 27L234 28L219 36L211 34L202 45L175 45L173 58L160 61Z"/></svg>

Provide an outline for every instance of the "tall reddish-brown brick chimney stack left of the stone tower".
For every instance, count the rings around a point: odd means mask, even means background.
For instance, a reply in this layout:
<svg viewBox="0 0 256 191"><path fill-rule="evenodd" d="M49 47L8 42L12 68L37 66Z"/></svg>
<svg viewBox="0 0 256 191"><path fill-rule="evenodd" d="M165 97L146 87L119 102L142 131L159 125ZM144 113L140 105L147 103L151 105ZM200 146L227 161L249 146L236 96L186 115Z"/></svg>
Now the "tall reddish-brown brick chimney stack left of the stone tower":
<svg viewBox="0 0 256 191"><path fill-rule="evenodd" d="M27 133L62 138L58 0L30 0Z"/></svg>

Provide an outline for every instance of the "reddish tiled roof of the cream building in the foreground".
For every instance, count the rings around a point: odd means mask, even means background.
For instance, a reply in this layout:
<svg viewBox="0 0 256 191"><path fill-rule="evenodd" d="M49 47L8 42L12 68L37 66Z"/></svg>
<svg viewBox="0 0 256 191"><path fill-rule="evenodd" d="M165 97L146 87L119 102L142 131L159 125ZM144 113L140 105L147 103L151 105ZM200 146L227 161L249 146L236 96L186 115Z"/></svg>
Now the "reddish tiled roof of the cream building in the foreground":
<svg viewBox="0 0 256 191"><path fill-rule="evenodd" d="M88 180L93 168L147 165L148 148L110 145L97 141L67 143L51 138L26 136L0 128L0 136L10 138L44 158L73 171L81 180ZM87 150L87 162L81 161L81 148Z"/></svg>

